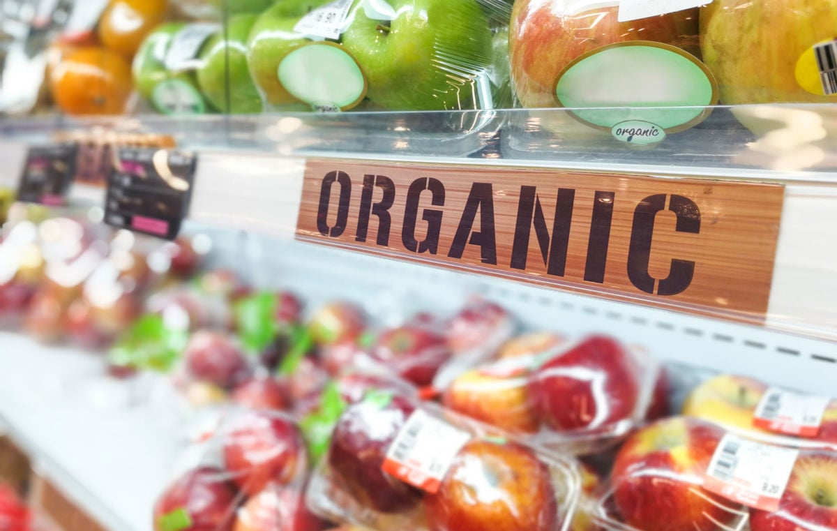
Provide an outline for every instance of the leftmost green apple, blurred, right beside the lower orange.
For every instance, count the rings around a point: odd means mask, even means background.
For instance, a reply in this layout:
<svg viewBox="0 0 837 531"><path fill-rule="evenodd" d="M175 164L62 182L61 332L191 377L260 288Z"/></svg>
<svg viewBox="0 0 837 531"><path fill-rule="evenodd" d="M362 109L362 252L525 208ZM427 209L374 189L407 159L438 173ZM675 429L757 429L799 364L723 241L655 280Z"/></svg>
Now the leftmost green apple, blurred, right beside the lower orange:
<svg viewBox="0 0 837 531"><path fill-rule="evenodd" d="M203 114L208 110L194 73L175 73L166 68L172 39L185 27L183 23L163 24L146 37L134 57L137 92L163 114Z"/></svg>

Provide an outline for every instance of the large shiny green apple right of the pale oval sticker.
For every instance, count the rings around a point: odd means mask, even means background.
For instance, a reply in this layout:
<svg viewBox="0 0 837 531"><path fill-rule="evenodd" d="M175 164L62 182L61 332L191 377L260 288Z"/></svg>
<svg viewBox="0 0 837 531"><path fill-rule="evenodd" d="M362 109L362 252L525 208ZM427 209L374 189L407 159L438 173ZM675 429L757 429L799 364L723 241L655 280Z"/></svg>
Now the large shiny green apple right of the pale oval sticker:
<svg viewBox="0 0 837 531"><path fill-rule="evenodd" d="M367 97L393 111L479 107L477 80L491 64L491 31L476 0L389 0L390 20L362 5L342 44L361 64Z"/></svg>

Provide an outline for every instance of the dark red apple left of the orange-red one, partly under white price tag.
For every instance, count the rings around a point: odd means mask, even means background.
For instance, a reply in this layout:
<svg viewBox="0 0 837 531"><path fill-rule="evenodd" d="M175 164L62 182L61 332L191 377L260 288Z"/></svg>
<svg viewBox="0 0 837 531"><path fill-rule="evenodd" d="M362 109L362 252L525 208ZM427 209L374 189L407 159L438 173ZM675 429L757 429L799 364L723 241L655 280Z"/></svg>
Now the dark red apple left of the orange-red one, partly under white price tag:
<svg viewBox="0 0 837 531"><path fill-rule="evenodd" d="M387 395L383 395L384 398ZM328 463L336 483L359 503L381 513L412 508L421 492L383 472L383 461L398 431L413 413L406 399L376 395L350 405L331 435Z"/></svg>

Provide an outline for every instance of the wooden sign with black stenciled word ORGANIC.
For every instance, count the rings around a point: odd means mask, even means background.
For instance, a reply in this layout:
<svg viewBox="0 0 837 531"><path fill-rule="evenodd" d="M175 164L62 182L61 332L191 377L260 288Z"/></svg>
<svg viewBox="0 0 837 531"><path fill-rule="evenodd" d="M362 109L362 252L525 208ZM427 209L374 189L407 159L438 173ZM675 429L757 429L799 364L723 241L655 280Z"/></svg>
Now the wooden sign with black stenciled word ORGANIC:
<svg viewBox="0 0 837 531"><path fill-rule="evenodd" d="M540 168L309 160L299 239L758 320L784 188Z"/></svg>

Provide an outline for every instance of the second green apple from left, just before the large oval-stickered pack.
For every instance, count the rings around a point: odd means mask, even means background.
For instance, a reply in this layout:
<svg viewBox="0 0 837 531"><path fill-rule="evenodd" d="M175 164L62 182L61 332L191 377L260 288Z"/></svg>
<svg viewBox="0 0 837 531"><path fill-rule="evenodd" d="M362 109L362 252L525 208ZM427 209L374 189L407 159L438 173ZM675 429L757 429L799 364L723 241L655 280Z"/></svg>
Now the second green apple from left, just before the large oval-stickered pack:
<svg viewBox="0 0 837 531"><path fill-rule="evenodd" d="M258 114L262 110L261 95L247 65L247 38L256 18L254 14L230 18L226 34L218 31L203 45L198 86L223 112Z"/></svg>

